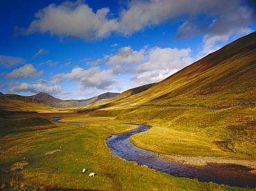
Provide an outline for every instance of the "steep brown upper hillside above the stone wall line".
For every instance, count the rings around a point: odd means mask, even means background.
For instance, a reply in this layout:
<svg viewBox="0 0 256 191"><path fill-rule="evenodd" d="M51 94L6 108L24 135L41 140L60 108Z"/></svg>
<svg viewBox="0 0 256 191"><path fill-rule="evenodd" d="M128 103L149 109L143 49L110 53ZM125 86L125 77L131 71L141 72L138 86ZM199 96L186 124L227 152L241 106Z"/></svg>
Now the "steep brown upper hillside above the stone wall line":
<svg viewBox="0 0 256 191"><path fill-rule="evenodd" d="M256 32L111 105L238 105L256 102ZM129 90L133 91L133 90ZM119 98L122 97L122 100Z"/></svg>

